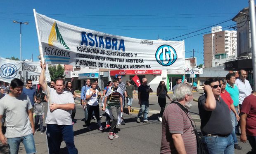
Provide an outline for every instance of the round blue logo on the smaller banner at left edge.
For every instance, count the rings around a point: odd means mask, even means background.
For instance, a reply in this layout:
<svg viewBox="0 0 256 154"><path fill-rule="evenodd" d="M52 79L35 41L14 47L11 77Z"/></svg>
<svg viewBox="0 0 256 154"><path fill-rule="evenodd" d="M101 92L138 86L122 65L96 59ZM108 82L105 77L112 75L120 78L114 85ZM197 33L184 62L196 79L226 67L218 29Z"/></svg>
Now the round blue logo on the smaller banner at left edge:
<svg viewBox="0 0 256 154"><path fill-rule="evenodd" d="M14 78L17 75L17 67L14 64L4 64L0 67L0 76L3 78Z"/></svg>

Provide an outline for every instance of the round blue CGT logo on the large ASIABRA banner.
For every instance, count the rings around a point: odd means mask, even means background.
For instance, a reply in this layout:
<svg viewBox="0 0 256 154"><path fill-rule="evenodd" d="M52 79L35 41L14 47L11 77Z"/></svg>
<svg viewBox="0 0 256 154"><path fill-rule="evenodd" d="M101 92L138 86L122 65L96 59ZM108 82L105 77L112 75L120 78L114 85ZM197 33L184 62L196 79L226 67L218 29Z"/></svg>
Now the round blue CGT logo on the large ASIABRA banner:
<svg viewBox="0 0 256 154"><path fill-rule="evenodd" d="M156 50L156 61L163 66L170 66L177 60L177 53L169 45L161 45Z"/></svg>

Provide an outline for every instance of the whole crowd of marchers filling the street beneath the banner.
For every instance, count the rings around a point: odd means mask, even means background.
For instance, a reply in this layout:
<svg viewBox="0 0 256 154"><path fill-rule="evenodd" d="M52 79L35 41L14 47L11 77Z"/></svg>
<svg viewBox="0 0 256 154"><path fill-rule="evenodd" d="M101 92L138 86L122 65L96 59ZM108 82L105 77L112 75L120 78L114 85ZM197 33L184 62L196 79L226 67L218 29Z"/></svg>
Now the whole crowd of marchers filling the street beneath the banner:
<svg viewBox="0 0 256 154"><path fill-rule="evenodd" d="M107 131L109 140L119 138L117 126L125 125L122 116L124 107L127 104L128 115L132 115L131 106L136 95L140 104L136 122L151 123L148 120L149 93L153 90L147 85L147 78L142 78L137 94L130 80L122 82L121 75L109 81L103 93L97 80L88 78L79 95L72 88L72 82L65 82L62 78L51 81L50 86L45 84L43 71L46 64L40 64L40 67L42 71L38 85L33 86L32 80L28 79L24 86L22 80L14 78L10 84L5 83L0 87L0 141L8 144L9 153L17 154L20 142L24 144L26 153L36 153L33 134L39 130L41 134L46 133L50 154L59 153L62 140L69 154L78 153L73 135L76 97L81 98L84 126L92 130L90 121L97 120L98 130ZM226 78L215 77L205 81L204 94L198 99L201 133L198 133L188 112L194 99L191 85L182 83L178 78L173 87L173 97L170 98L165 82L161 81L156 90L161 108L158 120L162 123L160 153L233 154L234 149L242 149L236 134L243 143L248 140L251 153L256 153L256 92L253 92L246 78L247 72L240 70L237 79L235 74L229 73ZM166 97L171 101L167 107ZM48 101L47 115L43 101ZM101 122L100 108L105 112L105 122Z"/></svg>

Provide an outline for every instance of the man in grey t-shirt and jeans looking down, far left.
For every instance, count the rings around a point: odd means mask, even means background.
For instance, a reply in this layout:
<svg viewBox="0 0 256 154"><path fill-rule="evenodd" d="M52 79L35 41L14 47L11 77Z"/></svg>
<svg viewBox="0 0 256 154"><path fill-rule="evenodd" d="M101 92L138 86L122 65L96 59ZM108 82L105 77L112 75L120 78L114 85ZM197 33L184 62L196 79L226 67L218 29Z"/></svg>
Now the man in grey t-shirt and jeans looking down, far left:
<svg viewBox="0 0 256 154"><path fill-rule="evenodd" d="M22 80L14 78L10 85L11 92L0 100L0 121L6 115L6 133L4 136L0 129L0 141L4 145L8 142L11 154L18 153L20 142L27 154L36 153L32 105L28 96L22 93L23 86ZM0 122L0 128L1 125Z"/></svg>

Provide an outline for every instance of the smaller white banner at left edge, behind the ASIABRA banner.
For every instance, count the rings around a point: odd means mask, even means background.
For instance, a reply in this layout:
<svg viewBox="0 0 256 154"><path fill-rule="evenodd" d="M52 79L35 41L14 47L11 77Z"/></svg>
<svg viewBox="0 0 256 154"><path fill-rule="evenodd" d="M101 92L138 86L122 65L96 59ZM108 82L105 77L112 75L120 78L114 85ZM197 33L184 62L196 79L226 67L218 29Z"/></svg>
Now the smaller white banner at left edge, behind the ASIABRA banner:
<svg viewBox="0 0 256 154"><path fill-rule="evenodd" d="M41 73L39 63L0 58L0 81L10 83L13 78L19 78L26 83L26 80L30 78L33 84L38 84ZM45 76L47 82L51 82L48 67L46 67Z"/></svg>

